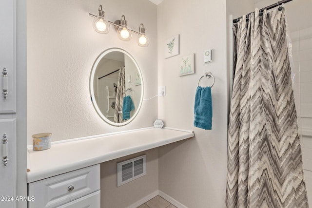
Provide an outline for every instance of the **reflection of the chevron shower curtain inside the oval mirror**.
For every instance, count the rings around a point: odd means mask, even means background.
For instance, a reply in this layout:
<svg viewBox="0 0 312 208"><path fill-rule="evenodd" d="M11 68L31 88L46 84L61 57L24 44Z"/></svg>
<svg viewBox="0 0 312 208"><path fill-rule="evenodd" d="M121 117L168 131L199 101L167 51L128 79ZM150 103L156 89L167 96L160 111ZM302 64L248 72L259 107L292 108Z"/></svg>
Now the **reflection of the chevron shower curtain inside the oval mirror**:
<svg viewBox="0 0 312 208"><path fill-rule="evenodd" d="M117 81L117 93L116 93L116 104L115 104L115 113L114 113L114 121L116 123L122 123L122 102L123 95L125 94L125 68L120 67L118 73L118 81Z"/></svg>

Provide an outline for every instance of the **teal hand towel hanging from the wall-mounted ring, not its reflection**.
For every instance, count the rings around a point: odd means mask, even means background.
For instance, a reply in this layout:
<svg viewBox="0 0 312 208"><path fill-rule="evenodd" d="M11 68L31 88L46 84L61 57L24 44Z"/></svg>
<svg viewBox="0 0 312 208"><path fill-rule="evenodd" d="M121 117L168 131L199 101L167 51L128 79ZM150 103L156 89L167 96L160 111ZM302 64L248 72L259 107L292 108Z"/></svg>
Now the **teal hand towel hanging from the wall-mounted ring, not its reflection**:
<svg viewBox="0 0 312 208"><path fill-rule="evenodd" d="M211 87L198 86L195 94L194 126L211 130L213 118L213 102Z"/></svg>

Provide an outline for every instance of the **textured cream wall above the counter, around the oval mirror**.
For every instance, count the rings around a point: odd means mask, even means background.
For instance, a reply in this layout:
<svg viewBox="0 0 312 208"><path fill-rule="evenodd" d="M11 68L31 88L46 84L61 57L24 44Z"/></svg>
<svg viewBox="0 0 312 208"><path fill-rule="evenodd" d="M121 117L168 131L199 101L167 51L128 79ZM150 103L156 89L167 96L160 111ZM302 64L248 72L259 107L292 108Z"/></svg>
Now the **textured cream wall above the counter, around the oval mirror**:
<svg viewBox="0 0 312 208"><path fill-rule="evenodd" d="M125 15L128 26L140 23L150 37L148 47L137 46L136 36L125 42L114 27L108 35L96 33L93 18L102 4L106 18ZM144 8L144 9L141 9ZM142 70L144 98L157 94L156 5L147 0L28 0L27 1L27 123L32 134L52 132L52 141L152 126L157 99L143 101L137 118L123 127L106 124L90 99L89 76L94 60L111 47L129 52Z"/></svg>

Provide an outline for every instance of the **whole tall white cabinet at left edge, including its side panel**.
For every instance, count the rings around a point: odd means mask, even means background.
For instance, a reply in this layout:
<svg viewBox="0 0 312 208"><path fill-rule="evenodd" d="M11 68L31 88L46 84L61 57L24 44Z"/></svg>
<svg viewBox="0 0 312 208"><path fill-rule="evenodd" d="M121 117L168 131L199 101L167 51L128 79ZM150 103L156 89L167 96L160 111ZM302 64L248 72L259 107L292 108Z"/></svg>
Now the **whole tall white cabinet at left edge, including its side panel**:
<svg viewBox="0 0 312 208"><path fill-rule="evenodd" d="M26 0L0 1L1 208L27 207L25 19Z"/></svg>

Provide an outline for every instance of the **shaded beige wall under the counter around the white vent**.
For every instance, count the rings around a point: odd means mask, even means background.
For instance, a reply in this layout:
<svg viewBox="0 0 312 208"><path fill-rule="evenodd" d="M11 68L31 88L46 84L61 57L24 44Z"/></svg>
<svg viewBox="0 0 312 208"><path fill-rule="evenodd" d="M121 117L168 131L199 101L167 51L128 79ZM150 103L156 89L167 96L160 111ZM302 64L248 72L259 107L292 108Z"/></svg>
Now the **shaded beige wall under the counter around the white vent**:
<svg viewBox="0 0 312 208"><path fill-rule="evenodd" d="M117 163L146 154L147 174L117 185ZM101 208L126 208L158 190L158 150L152 149L101 164Z"/></svg>

